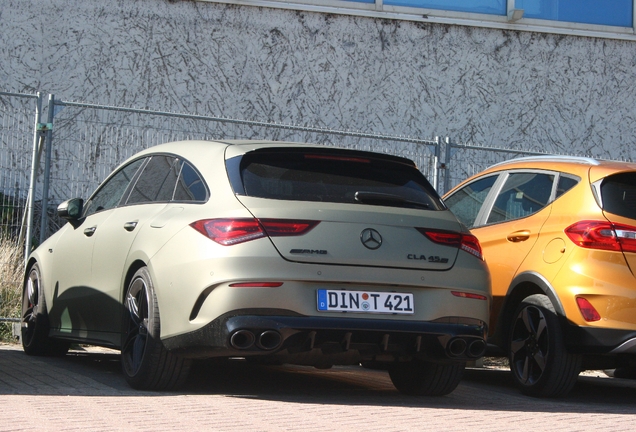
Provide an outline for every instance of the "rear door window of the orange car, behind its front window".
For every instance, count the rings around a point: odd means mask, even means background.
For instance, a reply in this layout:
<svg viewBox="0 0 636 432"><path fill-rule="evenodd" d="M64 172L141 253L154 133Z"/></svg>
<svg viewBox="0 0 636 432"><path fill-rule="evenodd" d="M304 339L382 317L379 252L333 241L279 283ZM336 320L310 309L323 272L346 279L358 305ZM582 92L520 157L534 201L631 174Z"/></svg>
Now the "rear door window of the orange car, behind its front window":
<svg viewBox="0 0 636 432"><path fill-rule="evenodd" d="M512 173L497 195L487 223L519 219L538 212L550 200L554 175Z"/></svg>

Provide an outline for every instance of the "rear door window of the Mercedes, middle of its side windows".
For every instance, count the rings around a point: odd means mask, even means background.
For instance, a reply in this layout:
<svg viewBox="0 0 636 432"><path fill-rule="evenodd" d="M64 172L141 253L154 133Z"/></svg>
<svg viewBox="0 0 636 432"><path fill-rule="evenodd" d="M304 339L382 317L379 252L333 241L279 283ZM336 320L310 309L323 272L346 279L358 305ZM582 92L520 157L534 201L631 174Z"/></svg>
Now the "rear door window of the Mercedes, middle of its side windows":
<svg viewBox="0 0 636 432"><path fill-rule="evenodd" d="M170 201L179 175L179 165L179 160L174 156L152 156L130 191L126 204Z"/></svg>

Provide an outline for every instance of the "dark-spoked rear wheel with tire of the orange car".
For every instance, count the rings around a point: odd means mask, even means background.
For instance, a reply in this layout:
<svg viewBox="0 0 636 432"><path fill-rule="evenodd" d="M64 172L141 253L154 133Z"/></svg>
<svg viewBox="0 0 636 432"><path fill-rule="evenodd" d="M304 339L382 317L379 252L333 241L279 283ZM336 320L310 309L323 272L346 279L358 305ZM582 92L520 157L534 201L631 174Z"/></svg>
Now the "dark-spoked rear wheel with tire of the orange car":
<svg viewBox="0 0 636 432"><path fill-rule="evenodd" d="M581 371L581 356L567 351L561 324L547 296L524 299L510 326L510 370L522 393L562 397Z"/></svg>

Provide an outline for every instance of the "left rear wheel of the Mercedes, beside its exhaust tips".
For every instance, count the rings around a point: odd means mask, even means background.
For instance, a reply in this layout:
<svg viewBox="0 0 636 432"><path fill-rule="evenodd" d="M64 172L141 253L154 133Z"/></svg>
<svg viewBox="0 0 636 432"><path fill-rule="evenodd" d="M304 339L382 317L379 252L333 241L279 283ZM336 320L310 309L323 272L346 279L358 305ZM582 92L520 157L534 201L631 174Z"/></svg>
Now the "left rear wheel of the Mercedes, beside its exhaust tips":
<svg viewBox="0 0 636 432"><path fill-rule="evenodd" d="M124 297L121 364L138 390L174 390L188 377L192 361L168 351L160 339L161 320L146 267L133 276Z"/></svg>

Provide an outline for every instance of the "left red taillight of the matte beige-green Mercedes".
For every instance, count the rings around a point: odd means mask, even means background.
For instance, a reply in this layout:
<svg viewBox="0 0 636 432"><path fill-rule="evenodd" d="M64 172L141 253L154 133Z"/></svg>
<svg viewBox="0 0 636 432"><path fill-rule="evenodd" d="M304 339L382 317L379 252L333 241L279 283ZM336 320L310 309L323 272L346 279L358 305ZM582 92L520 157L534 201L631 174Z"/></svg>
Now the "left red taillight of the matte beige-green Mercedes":
<svg viewBox="0 0 636 432"><path fill-rule="evenodd" d="M287 219L203 219L190 224L204 236L223 246L231 246L265 236L302 235L318 225L317 221Z"/></svg>

